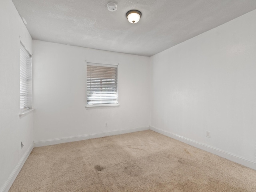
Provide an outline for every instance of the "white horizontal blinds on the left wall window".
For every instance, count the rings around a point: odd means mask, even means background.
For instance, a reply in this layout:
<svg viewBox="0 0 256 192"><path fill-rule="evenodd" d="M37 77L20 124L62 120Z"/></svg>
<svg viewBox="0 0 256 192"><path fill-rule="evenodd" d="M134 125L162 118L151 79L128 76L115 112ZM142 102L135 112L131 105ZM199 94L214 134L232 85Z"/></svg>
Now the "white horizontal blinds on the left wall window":
<svg viewBox="0 0 256 192"><path fill-rule="evenodd" d="M20 44L20 109L32 106L32 74L31 58L25 48Z"/></svg>

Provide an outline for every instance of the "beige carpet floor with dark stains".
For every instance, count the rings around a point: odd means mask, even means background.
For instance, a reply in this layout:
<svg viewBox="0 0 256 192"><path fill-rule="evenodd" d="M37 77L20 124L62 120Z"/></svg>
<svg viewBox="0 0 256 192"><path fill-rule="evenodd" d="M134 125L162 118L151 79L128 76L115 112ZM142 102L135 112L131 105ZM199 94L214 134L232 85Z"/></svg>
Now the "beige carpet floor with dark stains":
<svg viewBox="0 0 256 192"><path fill-rule="evenodd" d="M34 148L10 192L256 192L256 171L147 130Z"/></svg>

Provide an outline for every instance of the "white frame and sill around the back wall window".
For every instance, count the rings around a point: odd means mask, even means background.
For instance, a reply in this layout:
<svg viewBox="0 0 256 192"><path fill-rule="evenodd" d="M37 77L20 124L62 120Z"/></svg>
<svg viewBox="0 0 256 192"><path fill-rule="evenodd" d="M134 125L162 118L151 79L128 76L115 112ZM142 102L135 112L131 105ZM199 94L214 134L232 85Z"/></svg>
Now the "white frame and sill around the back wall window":
<svg viewBox="0 0 256 192"><path fill-rule="evenodd" d="M93 63L93 62L86 62L86 109L92 109L92 108L115 108L119 106L118 103L118 65L119 64L101 64L101 63ZM102 67L114 67L116 68L116 80L117 80L117 85L116 85L116 97L117 97L117 102L116 104L111 103L111 104L89 104L88 105L88 98L87 98L87 66L102 66Z"/></svg>

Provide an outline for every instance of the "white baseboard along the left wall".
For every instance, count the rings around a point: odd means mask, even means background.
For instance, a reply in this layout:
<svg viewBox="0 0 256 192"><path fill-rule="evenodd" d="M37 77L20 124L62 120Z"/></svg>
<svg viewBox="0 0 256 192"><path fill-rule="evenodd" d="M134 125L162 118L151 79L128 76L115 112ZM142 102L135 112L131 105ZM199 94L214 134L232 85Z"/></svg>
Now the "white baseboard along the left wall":
<svg viewBox="0 0 256 192"><path fill-rule="evenodd" d="M28 150L25 152L25 154L20 159L20 162L18 163L18 165L12 171L12 174L9 176L8 180L5 182L4 186L2 186L2 188L0 189L0 192L8 192L8 190L12 186L12 183L14 182L15 178L19 174L22 166L26 162L26 160L27 160L27 158L28 158L28 156L31 153L33 148L34 148L34 144L31 144L30 147L28 148Z"/></svg>

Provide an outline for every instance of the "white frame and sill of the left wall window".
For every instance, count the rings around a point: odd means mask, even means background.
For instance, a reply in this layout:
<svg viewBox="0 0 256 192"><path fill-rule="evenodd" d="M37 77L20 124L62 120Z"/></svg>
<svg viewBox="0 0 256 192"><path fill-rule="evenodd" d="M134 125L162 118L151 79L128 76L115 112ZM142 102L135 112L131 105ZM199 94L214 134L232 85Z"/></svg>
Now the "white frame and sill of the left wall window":
<svg viewBox="0 0 256 192"><path fill-rule="evenodd" d="M24 76L21 76L21 52L23 52L26 55L26 58L30 58L30 63L29 63L29 72L26 74L26 81L25 84L28 86L28 102L25 102L24 108L21 108L21 80L22 78L24 79ZM27 66L26 66L27 67ZM26 69L27 70L27 69ZM20 42L20 116L30 112L33 110L33 104L32 104L32 87L33 87L33 77L32 77L32 55L29 53L29 51L26 49L24 44Z"/></svg>

